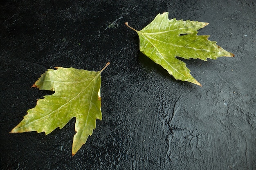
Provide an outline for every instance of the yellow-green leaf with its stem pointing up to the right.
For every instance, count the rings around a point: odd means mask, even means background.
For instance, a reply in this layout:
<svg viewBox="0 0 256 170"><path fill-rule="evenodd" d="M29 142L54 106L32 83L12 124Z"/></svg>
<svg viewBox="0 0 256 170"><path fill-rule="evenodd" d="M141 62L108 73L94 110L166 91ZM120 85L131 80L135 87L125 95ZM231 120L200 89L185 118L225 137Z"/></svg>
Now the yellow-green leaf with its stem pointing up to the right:
<svg viewBox="0 0 256 170"><path fill-rule="evenodd" d="M48 135L76 117L76 134L72 145L72 155L75 155L88 136L92 135L96 119L102 119L100 87L101 71L104 68L97 72L56 68L48 69L32 86L55 93L39 99L36 107L27 110L27 115L11 133L37 131Z"/></svg>

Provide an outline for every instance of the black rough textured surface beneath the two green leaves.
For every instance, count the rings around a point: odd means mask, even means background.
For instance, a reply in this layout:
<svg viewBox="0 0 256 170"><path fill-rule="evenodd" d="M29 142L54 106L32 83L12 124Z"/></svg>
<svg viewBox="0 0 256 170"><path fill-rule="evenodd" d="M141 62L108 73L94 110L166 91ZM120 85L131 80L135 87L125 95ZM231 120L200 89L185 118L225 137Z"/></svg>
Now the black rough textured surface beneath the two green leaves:
<svg viewBox="0 0 256 170"><path fill-rule="evenodd" d="M235 57L183 60L203 87L175 80L139 52L158 13L209 22ZM0 2L0 168L3 170L255 170L254 0L8 0ZM103 71L102 121L72 157L72 119L49 135L9 134L52 94L30 88L48 68Z"/></svg>

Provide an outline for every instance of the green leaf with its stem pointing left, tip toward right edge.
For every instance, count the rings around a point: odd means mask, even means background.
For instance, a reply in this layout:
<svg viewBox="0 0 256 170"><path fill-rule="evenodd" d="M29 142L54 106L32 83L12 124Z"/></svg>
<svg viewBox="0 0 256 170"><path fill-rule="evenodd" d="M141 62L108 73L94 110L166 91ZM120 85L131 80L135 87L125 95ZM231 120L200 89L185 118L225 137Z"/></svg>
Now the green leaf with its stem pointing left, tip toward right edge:
<svg viewBox="0 0 256 170"><path fill-rule="evenodd" d="M201 84L192 77L189 68L176 56L185 59L199 58L207 61L207 58L234 57L216 45L217 42L208 40L209 35L197 35L198 29L208 25L207 22L183 21L168 19L168 12L158 14L155 19L141 31L137 31L128 25L139 35L139 49L151 60L160 64L175 79Z"/></svg>

